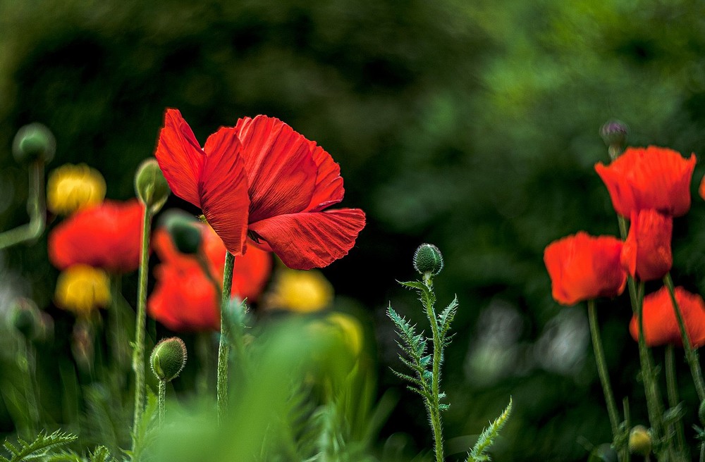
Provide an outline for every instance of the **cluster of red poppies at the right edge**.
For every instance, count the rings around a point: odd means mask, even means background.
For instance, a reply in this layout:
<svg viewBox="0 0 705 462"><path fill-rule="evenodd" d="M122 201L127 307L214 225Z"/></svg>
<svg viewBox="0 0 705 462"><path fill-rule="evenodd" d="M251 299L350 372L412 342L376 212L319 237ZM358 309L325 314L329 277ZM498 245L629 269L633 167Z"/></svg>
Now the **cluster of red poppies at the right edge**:
<svg viewBox="0 0 705 462"><path fill-rule="evenodd" d="M605 183L619 216L630 221L626 239L591 237L585 232L546 246L544 263L551 277L553 298L563 305L597 297L618 296L627 275L650 281L664 277L673 266L673 218L690 208L690 182L696 158L683 158L671 149L627 148L609 166L595 170ZM705 180L700 194L705 197ZM693 346L705 344L705 303L682 287L675 289ZM682 344L673 302L666 287L646 295L643 305L646 344ZM630 325L637 339L636 318Z"/></svg>

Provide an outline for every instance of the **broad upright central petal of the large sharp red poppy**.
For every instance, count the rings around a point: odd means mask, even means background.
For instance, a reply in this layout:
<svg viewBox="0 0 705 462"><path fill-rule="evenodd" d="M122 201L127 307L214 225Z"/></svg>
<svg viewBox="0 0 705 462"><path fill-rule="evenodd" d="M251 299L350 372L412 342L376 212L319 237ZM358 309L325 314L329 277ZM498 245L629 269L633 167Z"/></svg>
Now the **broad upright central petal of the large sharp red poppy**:
<svg viewBox="0 0 705 462"><path fill-rule="evenodd" d="M316 185L311 142L267 116L241 118L235 130L250 185L250 222L304 211Z"/></svg>

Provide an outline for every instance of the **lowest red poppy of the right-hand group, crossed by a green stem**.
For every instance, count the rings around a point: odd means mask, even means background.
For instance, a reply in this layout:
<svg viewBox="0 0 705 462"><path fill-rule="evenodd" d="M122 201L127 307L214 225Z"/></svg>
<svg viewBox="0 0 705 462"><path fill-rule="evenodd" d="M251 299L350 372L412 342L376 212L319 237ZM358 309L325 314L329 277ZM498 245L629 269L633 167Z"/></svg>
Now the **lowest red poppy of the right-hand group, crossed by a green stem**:
<svg viewBox="0 0 705 462"><path fill-rule="evenodd" d="M688 339L694 347L705 344L705 302L697 294L691 294L682 287L675 288L675 299L685 323ZM678 320L675 318L673 303L666 287L644 297L644 339L649 346L672 344L683 346ZM639 339L636 316L629 325L632 338Z"/></svg>

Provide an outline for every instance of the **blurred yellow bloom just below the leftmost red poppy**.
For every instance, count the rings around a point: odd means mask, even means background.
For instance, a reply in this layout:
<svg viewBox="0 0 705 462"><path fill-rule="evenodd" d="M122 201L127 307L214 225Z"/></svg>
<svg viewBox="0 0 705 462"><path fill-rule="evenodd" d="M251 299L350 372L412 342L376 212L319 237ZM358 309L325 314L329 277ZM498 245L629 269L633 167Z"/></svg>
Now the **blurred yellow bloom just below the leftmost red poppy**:
<svg viewBox="0 0 705 462"><path fill-rule="evenodd" d="M87 317L95 308L110 303L108 273L87 265L70 266L56 281L54 300L59 308Z"/></svg>

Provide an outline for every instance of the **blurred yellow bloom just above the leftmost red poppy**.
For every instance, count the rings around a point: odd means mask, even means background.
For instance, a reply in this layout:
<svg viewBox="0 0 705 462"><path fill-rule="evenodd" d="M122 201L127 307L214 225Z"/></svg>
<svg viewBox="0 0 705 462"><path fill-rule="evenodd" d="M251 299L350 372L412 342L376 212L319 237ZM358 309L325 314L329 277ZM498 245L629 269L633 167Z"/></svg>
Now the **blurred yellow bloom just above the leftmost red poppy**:
<svg viewBox="0 0 705 462"><path fill-rule="evenodd" d="M80 208L101 204L105 199L105 180L98 170L85 163L67 163L56 168L47 180L47 208L68 215Z"/></svg>

